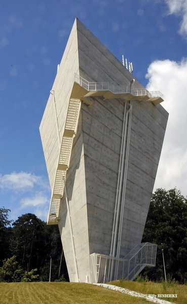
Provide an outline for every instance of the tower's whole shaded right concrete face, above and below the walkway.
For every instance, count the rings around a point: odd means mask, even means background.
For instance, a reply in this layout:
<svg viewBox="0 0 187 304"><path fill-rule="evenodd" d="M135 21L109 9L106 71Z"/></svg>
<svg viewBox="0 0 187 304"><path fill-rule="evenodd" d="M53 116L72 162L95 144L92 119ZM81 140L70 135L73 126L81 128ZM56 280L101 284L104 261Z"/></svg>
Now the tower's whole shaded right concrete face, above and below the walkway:
<svg viewBox="0 0 187 304"><path fill-rule="evenodd" d="M83 78L117 85L134 78L79 21L77 28ZM134 87L143 88L136 79ZM168 117L151 102L134 100L132 108L121 257L142 241ZM110 253L123 113L122 100L97 97L82 115L90 253Z"/></svg>

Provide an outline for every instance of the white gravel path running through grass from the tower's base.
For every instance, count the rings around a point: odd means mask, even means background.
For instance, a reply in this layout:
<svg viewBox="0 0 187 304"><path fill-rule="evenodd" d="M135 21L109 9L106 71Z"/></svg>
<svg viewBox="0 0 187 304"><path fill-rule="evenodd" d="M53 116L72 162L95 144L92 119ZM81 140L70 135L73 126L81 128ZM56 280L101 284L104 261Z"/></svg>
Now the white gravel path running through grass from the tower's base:
<svg viewBox="0 0 187 304"><path fill-rule="evenodd" d="M110 285L110 284L97 283L97 284L94 284L94 285L100 285L102 287L109 288L109 289L116 290L116 291L120 291L120 292L123 292L123 293L127 293L127 294L132 295L132 296L143 297L143 298L145 298L149 301L152 301L154 303L160 303L160 304L170 304L171 303L169 301L162 300L161 298L150 297L148 294L143 294L143 293L131 291L129 289L114 286L114 285ZM172 302L171 304L174 304L174 303Z"/></svg>

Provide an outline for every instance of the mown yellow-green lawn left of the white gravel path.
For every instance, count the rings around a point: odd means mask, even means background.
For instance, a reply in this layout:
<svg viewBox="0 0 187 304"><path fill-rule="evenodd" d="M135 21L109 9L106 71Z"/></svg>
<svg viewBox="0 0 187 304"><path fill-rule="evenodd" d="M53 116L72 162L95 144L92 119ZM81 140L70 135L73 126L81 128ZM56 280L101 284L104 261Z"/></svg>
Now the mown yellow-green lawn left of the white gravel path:
<svg viewBox="0 0 187 304"><path fill-rule="evenodd" d="M0 283L1 304L138 304L151 303L118 291L86 283Z"/></svg>

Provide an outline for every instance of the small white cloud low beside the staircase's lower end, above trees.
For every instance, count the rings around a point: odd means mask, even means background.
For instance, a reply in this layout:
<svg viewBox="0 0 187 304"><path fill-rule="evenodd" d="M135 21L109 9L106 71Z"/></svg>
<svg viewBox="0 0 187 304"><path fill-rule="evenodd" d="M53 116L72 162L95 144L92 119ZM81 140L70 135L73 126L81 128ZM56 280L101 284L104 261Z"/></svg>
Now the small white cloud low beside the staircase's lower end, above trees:
<svg viewBox="0 0 187 304"><path fill-rule="evenodd" d="M35 196L32 198L23 198L20 201L21 207L20 209L27 208L28 206L41 206L44 205L45 203L48 203L49 205L49 200L48 197L46 197L42 192L36 192Z"/></svg>

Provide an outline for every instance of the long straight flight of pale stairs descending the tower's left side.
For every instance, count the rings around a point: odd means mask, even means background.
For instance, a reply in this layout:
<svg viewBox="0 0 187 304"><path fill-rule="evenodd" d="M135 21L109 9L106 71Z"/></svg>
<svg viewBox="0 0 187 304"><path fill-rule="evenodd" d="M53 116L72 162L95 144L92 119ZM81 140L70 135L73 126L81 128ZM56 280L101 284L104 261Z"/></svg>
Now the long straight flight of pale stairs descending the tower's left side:
<svg viewBox="0 0 187 304"><path fill-rule="evenodd" d="M80 100L71 98L69 101L64 134L60 147L59 161L55 176L55 182L51 197L48 216L48 225L58 224L60 201L64 192L64 180L69 168L73 138L76 134L76 126L80 109Z"/></svg>

